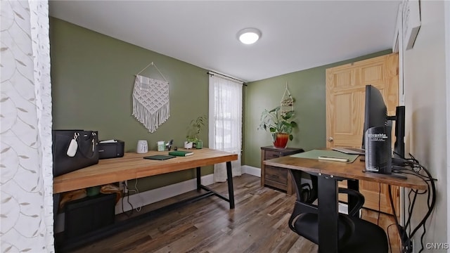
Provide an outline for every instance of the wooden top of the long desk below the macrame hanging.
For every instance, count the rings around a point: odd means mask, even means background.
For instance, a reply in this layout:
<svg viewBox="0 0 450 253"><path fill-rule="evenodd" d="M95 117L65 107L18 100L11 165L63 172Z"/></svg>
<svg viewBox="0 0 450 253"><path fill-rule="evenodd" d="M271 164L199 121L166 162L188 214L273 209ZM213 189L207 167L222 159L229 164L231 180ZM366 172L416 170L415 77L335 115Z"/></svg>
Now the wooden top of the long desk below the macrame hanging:
<svg viewBox="0 0 450 253"><path fill-rule="evenodd" d="M150 155L167 155L168 152L150 151L145 154L125 153L124 157L100 160L98 164L57 176L53 179L53 193L101 186L130 179L140 179L184 169L193 169L221 162L238 160L238 155L203 148L192 150L193 155L169 160L148 160Z"/></svg>

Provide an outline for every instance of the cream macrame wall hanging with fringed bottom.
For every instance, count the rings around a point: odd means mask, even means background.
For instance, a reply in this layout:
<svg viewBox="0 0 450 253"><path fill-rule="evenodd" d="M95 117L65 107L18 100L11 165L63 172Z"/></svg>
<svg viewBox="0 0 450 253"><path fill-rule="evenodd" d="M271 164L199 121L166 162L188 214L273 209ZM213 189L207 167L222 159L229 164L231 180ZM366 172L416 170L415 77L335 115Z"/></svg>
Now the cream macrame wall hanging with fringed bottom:
<svg viewBox="0 0 450 253"><path fill-rule="evenodd" d="M139 75L150 65L158 70L164 81ZM147 67L137 73L134 79L133 116L153 133L170 117L169 82L155 63Z"/></svg>

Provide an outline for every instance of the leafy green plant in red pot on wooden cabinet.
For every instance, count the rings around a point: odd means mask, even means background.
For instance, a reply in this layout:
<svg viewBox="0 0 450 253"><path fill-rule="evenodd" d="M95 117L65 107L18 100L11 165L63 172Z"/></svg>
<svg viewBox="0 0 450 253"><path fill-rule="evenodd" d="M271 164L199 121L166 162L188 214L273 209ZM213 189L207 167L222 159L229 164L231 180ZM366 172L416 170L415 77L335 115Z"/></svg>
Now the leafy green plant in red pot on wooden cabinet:
<svg viewBox="0 0 450 253"><path fill-rule="evenodd" d="M264 110L258 129L270 131L275 148L286 148L288 140L292 141L294 138L293 129L297 127L297 122L293 121L293 117L293 110L281 113L280 106L272 110Z"/></svg>

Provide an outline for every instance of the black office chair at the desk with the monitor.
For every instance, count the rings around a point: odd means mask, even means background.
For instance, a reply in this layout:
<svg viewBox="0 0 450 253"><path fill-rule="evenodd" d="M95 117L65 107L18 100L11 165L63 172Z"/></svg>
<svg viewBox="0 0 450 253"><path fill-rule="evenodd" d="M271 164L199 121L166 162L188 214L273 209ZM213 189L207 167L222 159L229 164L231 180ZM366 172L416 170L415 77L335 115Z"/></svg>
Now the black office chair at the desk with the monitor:
<svg viewBox="0 0 450 253"><path fill-rule="evenodd" d="M290 169L293 176L297 200L293 214L289 219L289 228L311 242L319 244L318 207L313 204L317 199L317 176L311 175L311 186L302 184L302 171ZM374 223L359 219L359 209L364 205L364 196L356 190L339 188L339 193L353 196L356 205L349 214L339 214L339 252L388 252L387 236L383 228Z"/></svg>

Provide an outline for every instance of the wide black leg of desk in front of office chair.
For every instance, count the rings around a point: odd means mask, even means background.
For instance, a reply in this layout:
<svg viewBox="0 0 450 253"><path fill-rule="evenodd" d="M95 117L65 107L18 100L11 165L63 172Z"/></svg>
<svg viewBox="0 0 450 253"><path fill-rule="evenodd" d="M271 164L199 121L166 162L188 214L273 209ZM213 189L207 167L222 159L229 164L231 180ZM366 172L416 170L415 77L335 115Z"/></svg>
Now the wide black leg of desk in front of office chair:
<svg viewBox="0 0 450 253"><path fill-rule="evenodd" d="M338 182L330 176L318 176L319 252L338 252Z"/></svg>

